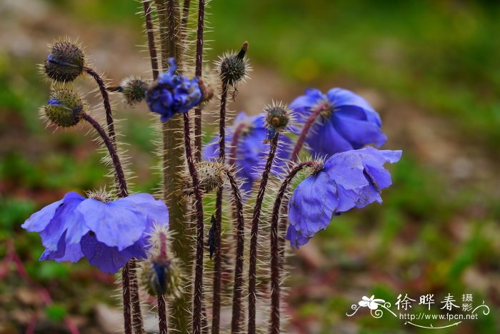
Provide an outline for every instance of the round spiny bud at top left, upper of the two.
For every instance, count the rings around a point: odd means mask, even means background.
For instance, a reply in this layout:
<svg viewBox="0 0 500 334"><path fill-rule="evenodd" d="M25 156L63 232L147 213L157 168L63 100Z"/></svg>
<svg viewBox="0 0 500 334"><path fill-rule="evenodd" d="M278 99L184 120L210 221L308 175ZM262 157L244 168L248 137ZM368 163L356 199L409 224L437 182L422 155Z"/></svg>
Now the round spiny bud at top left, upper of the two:
<svg viewBox="0 0 500 334"><path fill-rule="evenodd" d="M44 64L50 79L59 82L74 81L84 72L85 56L76 44L69 40L56 41Z"/></svg>

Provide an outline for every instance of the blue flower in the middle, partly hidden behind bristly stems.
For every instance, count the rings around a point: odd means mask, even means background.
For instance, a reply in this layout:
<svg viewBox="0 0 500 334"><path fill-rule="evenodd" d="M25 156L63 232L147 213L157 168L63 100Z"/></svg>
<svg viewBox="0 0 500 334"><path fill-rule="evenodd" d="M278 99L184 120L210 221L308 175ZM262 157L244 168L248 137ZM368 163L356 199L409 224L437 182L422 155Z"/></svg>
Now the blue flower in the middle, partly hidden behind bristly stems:
<svg viewBox="0 0 500 334"><path fill-rule="evenodd" d="M269 143L264 143L268 138L266 115L247 116L244 111L239 113L234 120L234 126L226 129L226 159L231 158L231 145L234 133L237 133L236 142L236 176L243 181L241 189L251 191L254 180L260 177L269 154ZM291 140L280 136L276 157L274 158L271 172L275 176L281 175L290 158ZM234 151L234 150L232 150ZM219 158L219 136L213 138L203 151L204 160L216 161Z"/></svg>

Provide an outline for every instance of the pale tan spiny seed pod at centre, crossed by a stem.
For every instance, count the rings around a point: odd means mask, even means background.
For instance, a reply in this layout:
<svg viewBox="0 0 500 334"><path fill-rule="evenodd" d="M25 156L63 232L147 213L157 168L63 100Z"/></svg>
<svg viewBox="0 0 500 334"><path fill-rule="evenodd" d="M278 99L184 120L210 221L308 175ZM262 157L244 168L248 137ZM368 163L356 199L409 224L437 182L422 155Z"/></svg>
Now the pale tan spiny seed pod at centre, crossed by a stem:
<svg viewBox="0 0 500 334"><path fill-rule="evenodd" d="M196 163L199 176L199 187L203 193L209 193L224 184L226 174L224 164L218 162L200 161ZM193 183L191 174L181 173L184 196L193 195Z"/></svg>

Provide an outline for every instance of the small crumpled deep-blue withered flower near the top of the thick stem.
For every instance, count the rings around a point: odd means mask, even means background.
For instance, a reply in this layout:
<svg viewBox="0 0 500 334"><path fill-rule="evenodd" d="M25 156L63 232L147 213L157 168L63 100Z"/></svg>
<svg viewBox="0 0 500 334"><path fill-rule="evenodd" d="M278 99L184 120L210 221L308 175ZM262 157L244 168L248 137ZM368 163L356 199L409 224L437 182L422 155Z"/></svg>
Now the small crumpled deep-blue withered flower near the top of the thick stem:
<svg viewBox="0 0 500 334"><path fill-rule="evenodd" d="M175 113L186 113L201 102L203 94L199 79L187 79L175 74L177 69L173 58L169 59L169 71L162 73L146 91L149 110L161 115L161 121L168 121Z"/></svg>

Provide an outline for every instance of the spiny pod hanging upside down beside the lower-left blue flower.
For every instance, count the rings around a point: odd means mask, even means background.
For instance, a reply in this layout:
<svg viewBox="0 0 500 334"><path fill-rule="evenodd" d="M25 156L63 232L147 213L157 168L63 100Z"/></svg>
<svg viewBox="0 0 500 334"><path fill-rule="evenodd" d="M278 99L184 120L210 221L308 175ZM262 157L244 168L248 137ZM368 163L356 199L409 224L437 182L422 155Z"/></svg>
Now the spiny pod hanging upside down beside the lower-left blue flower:
<svg viewBox="0 0 500 334"><path fill-rule="evenodd" d="M176 261L167 255L167 233L165 226L155 226L149 238L149 258L139 267L139 283L149 295L178 297L181 275Z"/></svg>

